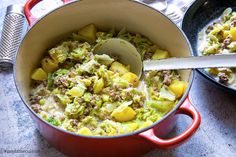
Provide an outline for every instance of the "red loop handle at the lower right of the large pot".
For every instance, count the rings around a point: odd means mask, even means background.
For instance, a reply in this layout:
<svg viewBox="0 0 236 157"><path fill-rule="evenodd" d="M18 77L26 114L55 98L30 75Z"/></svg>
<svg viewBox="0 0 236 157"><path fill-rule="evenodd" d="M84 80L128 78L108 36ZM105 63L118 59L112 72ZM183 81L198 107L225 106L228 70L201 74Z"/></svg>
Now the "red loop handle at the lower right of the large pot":
<svg viewBox="0 0 236 157"><path fill-rule="evenodd" d="M140 133L139 136L149 140L158 148L172 148L180 145L184 141L188 140L198 129L201 122L201 116L199 112L193 107L189 97L185 99L184 103L179 107L176 114L184 114L193 119L193 122L188 127L188 129L180 135L170 139L161 139L155 135L154 129L152 128Z"/></svg>

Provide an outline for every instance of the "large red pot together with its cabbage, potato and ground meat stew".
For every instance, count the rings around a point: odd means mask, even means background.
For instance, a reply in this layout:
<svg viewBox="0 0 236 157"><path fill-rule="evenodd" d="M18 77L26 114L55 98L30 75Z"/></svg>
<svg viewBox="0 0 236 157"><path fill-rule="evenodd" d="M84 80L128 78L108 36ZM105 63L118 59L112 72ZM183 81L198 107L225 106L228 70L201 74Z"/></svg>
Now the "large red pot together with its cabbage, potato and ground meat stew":
<svg viewBox="0 0 236 157"><path fill-rule="evenodd" d="M188 98L191 70L139 77L119 56L95 54L110 38L130 42L143 60L191 56L183 32L162 13L135 1L74 1L32 24L14 66L15 84L37 129L69 156L141 156L188 140L200 115ZM148 16L146 16L148 15ZM143 17L143 18L141 18ZM193 119L165 139L184 114Z"/></svg>

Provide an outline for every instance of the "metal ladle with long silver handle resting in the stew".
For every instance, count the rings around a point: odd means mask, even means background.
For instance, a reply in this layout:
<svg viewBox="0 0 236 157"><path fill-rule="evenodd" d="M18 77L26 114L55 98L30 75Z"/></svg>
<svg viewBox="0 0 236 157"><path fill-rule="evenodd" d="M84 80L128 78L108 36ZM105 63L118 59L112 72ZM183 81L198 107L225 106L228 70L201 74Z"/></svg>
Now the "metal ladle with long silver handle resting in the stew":
<svg viewBox="0 0 236 157"><path fill-rule="evenodd" d="M162 60L145 60L142 62L137 49L128 41L110 38L97 44L94 53L118 56L123 64L130 65L131 72L141 76L142 70L177 70L212 67L236 67L236 54L212 55L186 58L168 58Z"/></svg>

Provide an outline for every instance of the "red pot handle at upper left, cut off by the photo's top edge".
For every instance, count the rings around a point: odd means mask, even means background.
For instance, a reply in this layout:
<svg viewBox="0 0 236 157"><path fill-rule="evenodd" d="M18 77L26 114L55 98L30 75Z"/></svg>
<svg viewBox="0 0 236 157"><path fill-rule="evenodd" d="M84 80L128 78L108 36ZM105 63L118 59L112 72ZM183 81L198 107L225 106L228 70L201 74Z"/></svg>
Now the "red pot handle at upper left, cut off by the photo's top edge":
<svg viewBox="0 0 236 157"><path fill-rule="evenodd" d="M24 12L29 26L32 26L37 21L37 18L31 13L31 9L41 1L42 0L28 0L24 6ZM71 0L62 0L63 4L66 4L70 1Z"/></svg>

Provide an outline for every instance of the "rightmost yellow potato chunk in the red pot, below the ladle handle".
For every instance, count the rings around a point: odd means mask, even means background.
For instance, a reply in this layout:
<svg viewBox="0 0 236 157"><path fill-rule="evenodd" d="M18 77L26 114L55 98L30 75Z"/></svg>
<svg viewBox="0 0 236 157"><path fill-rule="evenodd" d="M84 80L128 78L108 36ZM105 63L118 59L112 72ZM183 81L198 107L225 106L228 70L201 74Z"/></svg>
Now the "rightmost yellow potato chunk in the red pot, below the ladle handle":
<svg viewBox="0 0 236 157"><path fill-rule="evenodd" d="M186 88L186 83L184 81L174 80L169 86L169 89L175 94L176 98L180 98Z"/></svg>

